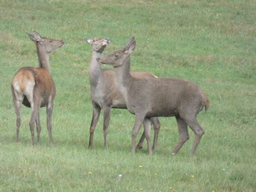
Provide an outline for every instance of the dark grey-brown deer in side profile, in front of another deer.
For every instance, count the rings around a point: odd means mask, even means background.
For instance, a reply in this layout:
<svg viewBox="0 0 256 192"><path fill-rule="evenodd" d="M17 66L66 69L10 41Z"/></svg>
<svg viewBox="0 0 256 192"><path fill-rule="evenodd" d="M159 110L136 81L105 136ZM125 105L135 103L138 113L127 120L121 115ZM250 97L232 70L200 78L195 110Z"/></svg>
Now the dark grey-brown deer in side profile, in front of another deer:
<svg viewBox="0 0 256 192"><path fill-rule="evenodd" d="M203 108L207 111L209 99L197 84L184 79L139 79L131 76L130 54L134 51L135 45L136 41L131 38L123 49L96 59L99 64L113 66L116 88L125 99L128 111L135 115L131 153L135 153L136 137L142 123L149 146L148 154L152 154L149 119L159 116L175 116L179 142L172 154L177 154L189 139L187 128L189 125L195 134L195 140L190 151L190 155L193 155L204 134L204 129L199 125L196 116Z"/></svg>

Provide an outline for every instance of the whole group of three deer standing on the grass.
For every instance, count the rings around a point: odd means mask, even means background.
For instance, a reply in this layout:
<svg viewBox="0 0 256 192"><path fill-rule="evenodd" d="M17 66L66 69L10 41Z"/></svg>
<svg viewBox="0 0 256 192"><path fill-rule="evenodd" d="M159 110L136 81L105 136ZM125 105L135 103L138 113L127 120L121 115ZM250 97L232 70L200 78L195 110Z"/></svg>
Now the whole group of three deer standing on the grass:
<svg viewBox="0 0 256 192"><path fill-rule="evenodd" d="M56 88L50 75L49 54L62 47L64 41L41 37L38 32L27 33L35 42L39 67L22 67L12 79L11 90L14 109L17 116L16 143L19 142L21 105L31 108L29 127L32 145L35 145L34 128L37 128L37 142L40 142L41 124L39 109L47 108L47 129L50 146L52 140L52 109ZM93 133L101 110L104 122L104 147L108 148L107 134L111 108L128 109L135 115L132 130L131 153L142 148L147 140L148 154L156 150L160 130L159 116L175 116L179 131L179 142L172 151L177 154L182 145L189 139L189 126L195 134L190 154L193 155L204 134L196 116L205 108L209 108L209 99L204 91L195 83L178 78L158 78L151 73L130 71L130 54L134 51L136 41L131 38L124 48L102 56L109 44L107 38L86 39L92 47L89 67L90 98L93 105L93 116L90 124L89 148L93 148ZM103 69L101 64L113 66ZM137 146L136 138L141 125L144 132ZM154 126L154 142L151 147L151 125Z"/></svg>

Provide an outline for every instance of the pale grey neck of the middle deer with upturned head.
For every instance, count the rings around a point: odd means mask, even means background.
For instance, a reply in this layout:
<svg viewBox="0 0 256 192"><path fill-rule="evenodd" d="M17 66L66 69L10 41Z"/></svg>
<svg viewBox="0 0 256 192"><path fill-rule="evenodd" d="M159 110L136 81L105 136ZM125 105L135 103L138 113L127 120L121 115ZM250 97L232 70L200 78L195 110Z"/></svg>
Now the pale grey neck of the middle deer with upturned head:
<svg viewBox="0 0 256 192"><path fill-rule="evenodd" d="M96 61L96 58L100 57L102 55L102 52L96 52L93 51L92 58L90 61L90 67L89 67L89 77L91 84L97 84L99 81L101 74L101 65L98 64Z"/></svg>

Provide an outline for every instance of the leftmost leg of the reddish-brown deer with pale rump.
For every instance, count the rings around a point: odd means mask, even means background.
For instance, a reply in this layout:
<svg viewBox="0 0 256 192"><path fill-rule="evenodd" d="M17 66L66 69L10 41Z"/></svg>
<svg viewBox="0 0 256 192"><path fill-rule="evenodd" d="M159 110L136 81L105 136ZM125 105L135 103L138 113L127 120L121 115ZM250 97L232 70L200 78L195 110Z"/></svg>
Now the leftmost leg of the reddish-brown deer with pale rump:
<svg viewBox="0 0 256 192"><path fill-rule="evenodd" d="M17 92L15 92L14 87L11 87L12 89L12 99L13 99L13 104L14 104L14 109L15 109L15 113L17 116L16 119L16 143L19 143L19 131L20 131L20 110L21 110L21 105L22 105L22 101L24 99L23 94L18 94Z"/></svg>

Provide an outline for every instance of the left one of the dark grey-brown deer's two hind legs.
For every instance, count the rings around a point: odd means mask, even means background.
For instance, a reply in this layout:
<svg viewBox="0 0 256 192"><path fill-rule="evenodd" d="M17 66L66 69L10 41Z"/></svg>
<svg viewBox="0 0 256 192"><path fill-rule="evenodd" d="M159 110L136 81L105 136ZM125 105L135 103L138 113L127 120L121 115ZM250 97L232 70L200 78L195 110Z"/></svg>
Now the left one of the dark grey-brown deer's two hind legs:
<svg viewBox="0 0 256 192"><path fill-rule="evenodd" d="M183 146L183 144L189 139L189 133L188 133L188 126L186 122L181 119L179 116L176 116L178 130L180 134L179 143L175 147L175 149L172 151L172 154L177 154L177 152L180 150L180 148Z"/></svg>

